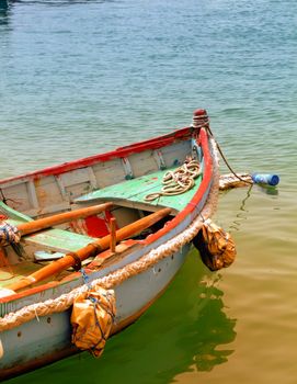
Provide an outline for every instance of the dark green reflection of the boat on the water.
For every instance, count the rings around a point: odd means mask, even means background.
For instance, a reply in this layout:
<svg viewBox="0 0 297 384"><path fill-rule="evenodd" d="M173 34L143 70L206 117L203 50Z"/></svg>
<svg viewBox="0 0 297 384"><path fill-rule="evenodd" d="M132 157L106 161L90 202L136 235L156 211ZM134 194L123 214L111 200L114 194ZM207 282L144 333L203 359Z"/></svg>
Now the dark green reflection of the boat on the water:
<svg viewBox="0 0 297 384"><path fill-rule="evenodd" d="M212 371L233 352L236 319L229 318L220 275L204 268L192 250L167 292L133 327L108 340L100 359L71 357L23 379L61 380L88 372L89 382L171 383L185 372ZM68 373L67 373L68 372Z"/></svg>

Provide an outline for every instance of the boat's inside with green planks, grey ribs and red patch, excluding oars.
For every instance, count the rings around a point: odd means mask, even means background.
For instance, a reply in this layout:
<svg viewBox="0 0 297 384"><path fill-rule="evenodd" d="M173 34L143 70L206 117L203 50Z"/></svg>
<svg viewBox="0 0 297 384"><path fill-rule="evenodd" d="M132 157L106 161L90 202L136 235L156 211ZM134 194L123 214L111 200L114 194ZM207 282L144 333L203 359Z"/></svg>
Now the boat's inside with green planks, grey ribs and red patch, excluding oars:
<svg viewBox="0 0 297 384"><path fill-rule="evenodd" d="M16 227L98 204L111 203L112 206L91 216L38 229L22 236L18 244L0 247L0 286L9 286L46 263L111 235L111 219L118 230L164 207L170 208L170 214L167 212L115 247L111 240L110 249L84 260L83 266L96 270L141 247L144 239L181 212L197 191L203 172L195 180L195 187L185 193L160 195L153 201L146 199L148 194L158 193L164 174L190 156L197 159L203 169L201 149L190 138L140 153L132 149L125 157L89 158L78 165L53 167L1 182L0 215L3 222ZM62 281L72 273L73 269L69 268L55 280Z"/></svg>

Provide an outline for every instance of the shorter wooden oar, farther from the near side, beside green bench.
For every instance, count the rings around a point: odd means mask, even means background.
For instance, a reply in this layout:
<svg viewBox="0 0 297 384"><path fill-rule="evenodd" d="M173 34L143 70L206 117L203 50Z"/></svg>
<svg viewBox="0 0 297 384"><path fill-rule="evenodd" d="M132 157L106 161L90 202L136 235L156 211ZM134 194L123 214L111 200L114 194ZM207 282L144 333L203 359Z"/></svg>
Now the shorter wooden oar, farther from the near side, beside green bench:
<svg viewBox="0 0 297 384"><path fill-rule="evenodd" d="M38 218L33 222L19 224L18 229L20 230L22 236L33 234L37 230L53 227L54 225L68 223L73 219L84 218L88 216L95 215L100 212L111 208L112 205L113 203L105 203L100 205L88 206L85 208L80 208L77 211L59 213L57 215L53 215L49 217Z"/></svg>

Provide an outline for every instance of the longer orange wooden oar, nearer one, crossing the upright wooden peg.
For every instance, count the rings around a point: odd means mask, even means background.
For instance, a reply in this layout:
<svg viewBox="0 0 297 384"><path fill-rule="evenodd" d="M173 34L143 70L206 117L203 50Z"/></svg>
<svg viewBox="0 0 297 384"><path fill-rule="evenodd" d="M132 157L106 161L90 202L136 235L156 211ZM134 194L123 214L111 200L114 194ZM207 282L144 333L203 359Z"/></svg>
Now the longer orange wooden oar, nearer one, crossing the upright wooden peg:
<svg viewBox="0 0 297 384"><path fill-rule="evenodd" d="M163 208L148 216L145 216L135 223L128 224L127 226L116 230L116 241L121 241L125 238L140 234L144 229L150 227L152 224L159 222L170 213L171 208ZM107 249L110 247L110 242L111 235L104 236L101 239L96 239L94 242L90 242L88 246L79 249L78 251L69 252L61 259L53 261L50 264L45 266L28 276L7 286L7 289L19 291L39 281L48 279L71 266L77 266L79 262L88 259L89 257L96 256L101 251Z"/></svg>

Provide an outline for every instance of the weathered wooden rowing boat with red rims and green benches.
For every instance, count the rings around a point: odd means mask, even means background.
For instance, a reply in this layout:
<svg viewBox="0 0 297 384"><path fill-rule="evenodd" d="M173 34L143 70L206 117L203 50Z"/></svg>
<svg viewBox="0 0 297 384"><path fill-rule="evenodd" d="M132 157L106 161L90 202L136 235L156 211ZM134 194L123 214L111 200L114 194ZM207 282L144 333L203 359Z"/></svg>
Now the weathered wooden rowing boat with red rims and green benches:
<svg viewBox="0 0 297 384"><path fill-rule="evenodd" d="M180 270L217 193L204 110L167 135L0 181L0 379L79 351L79 290L114 290L111 334L135 321Z"/></svg>

